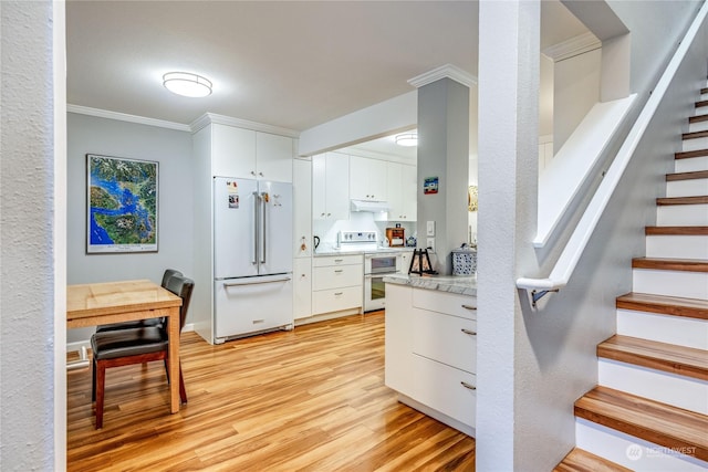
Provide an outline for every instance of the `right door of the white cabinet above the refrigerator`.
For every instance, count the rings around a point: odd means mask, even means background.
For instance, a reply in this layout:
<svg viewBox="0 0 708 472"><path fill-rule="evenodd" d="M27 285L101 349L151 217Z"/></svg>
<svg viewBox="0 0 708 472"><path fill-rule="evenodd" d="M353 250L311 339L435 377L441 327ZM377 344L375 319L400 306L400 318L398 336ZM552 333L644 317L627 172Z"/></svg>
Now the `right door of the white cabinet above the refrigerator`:
<svg viewBox="0 0 708 472"><path fill-rule="evenodd" d="M277 182L292 182L293 148L292 138L256 134L256 165L259 179Z"/></svg>

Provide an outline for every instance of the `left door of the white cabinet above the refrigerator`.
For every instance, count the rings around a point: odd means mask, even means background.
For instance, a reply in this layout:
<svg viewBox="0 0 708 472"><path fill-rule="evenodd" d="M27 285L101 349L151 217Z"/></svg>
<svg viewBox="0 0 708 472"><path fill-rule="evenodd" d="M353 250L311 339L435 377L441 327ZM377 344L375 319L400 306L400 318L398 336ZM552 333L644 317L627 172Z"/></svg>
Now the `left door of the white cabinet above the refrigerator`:
<svg viewBox="0 0 708 472"><path fill-rule="evenodd" d="M211 126L211 165L215 176L256 178L256 132L233 126Z"/></svg>

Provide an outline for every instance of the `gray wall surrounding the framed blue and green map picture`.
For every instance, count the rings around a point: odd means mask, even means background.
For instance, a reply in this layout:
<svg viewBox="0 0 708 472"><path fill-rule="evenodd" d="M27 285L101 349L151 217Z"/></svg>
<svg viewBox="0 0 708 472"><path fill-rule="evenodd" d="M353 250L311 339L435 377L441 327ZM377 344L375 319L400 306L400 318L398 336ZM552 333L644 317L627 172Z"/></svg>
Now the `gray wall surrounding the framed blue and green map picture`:
<svg viewBox="0 0 708 472"><path fill-rule="evenodd" d="M167 268L192 273L191 134L70 113L67 116L66 283L149 279ZM86 254L86 154L159 162L158 252ZM189 323L189 319L187 319ZM72 329L67 342L92 328Z"/></svg>

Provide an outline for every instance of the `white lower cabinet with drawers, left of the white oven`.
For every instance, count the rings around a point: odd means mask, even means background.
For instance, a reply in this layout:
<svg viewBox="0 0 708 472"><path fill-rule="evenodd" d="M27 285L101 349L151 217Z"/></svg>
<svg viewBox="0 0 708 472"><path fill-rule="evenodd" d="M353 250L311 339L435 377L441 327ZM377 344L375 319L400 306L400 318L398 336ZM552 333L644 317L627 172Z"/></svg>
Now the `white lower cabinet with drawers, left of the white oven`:
<svg viewBox="0 0 708 472"><path fill-rule="evenodd" d="M360 308L364 301L361 254L312 260L312 314Z"/></svg>

